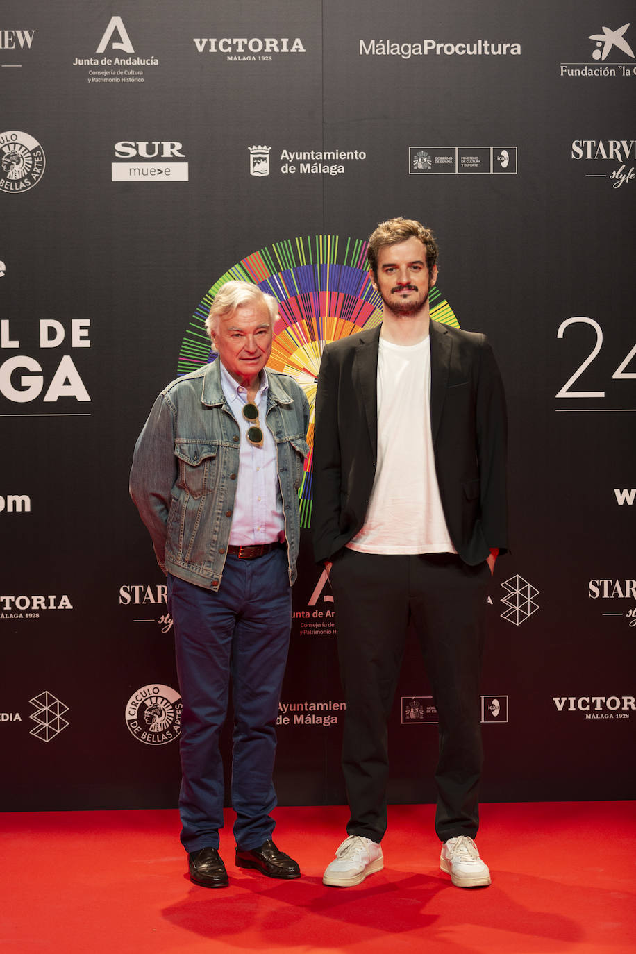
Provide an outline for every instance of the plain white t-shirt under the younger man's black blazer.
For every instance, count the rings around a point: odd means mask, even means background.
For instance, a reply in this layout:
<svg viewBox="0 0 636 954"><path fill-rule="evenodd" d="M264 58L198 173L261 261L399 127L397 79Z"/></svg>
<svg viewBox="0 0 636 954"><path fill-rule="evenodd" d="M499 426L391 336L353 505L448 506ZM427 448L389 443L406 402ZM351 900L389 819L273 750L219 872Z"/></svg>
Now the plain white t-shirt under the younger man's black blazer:
<svg viewBox="0 0 636 954"><path fill-rule="evenodd" d="M456 553L441 508L430 414L431 344L380 338L378 467L359 533L364 553Z"/></svg>

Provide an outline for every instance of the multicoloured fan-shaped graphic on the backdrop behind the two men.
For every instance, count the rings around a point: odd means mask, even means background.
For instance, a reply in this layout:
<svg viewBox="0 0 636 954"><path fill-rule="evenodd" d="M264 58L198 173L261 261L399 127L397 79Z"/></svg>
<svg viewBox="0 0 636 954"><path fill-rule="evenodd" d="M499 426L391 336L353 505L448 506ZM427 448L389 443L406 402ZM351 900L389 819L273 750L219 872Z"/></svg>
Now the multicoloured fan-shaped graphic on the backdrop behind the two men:
<svg viewBox="0 0 636 954"><path fill-rule="evenodd" d="M230 280L252 281L279 302L274 345L268 367L296 378L309 400L312 418L307 435L300 499L300 526L311 521L311 468L314 445L314 403L320 357L325 344L382 320L380 295L369 280L367 242L339 236L284 239L241 259L217 279L200 301L179 352L178 374L215 360L205 320L215 294ZM458 328L453 309L439 288L430 294L431 317Z"/></svg>

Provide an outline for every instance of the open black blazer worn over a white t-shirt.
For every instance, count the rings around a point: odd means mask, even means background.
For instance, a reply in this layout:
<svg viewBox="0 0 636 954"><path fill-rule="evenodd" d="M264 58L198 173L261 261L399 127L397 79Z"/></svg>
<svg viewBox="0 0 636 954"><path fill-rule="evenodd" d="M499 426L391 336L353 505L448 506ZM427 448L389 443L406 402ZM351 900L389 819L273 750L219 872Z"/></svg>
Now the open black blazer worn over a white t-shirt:
<svg viewBox="0 0 636 954"><path fill-rule="evenodd" d="M380 327L328 344L314 429L312 529L318 563L358 533L376 472ZM507 549L506 415L484 335L431 321L431 431L441 506L462 560Z"/></svg>

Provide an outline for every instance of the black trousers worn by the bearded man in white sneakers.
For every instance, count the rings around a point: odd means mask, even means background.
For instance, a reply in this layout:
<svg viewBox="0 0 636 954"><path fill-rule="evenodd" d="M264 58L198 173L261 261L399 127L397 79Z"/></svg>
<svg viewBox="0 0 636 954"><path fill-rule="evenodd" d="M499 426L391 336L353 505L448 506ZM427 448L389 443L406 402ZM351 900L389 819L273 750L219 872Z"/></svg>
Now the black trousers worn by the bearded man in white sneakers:
<svg viewBox="0 0 636 954"><path fill-rule="evenodd" d="M387 719L410 619L439 715L435 829L441 841L474 838L482 772L487 564L471 567L454 553L377 555L345 549L330 578L347 707L342 744L351 810L347 834L380 841L386 831Z"/></svg>

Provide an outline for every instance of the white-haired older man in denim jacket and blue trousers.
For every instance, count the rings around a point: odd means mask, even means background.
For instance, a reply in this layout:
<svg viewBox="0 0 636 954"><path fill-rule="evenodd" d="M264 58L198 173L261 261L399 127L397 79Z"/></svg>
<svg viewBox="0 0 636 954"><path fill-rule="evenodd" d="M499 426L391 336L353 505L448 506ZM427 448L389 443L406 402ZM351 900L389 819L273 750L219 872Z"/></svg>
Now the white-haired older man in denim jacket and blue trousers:
<svg viewBox="0 0 636 954"><path fill-rule="evenodd" d="M307 399L265 369L277 301L228 281L206 327L218 358L169 384L134 448L131 495L168 576L183 700L181 841L190 877L225 887L219 736L233 683L236 864L297 878L272 840L276 719L299 541Z"/></svg>

